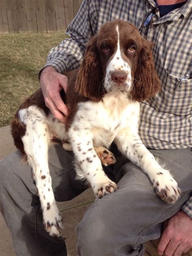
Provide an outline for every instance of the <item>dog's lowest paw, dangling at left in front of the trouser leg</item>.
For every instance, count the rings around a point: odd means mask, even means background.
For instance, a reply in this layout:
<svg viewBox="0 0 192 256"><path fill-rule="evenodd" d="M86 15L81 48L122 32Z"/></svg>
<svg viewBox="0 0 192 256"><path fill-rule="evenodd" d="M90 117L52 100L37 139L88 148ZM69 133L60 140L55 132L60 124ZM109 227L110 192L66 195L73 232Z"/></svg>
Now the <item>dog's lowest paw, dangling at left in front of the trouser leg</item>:
<svg viewBox="0 0 192 256"><path fill-rule="evenodd" d="M56 204L47 203L47 207L43 211L43 224L51 237L60 237L62 218Z"/></svg>

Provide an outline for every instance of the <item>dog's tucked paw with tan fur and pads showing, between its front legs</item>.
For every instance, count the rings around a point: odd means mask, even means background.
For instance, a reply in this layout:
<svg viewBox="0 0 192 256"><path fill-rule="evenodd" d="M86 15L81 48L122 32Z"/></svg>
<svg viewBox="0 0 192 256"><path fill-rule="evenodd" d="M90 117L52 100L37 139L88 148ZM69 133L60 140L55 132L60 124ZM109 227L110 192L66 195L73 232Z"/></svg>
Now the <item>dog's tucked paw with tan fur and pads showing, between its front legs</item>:
<svg viewBox="0 0 192 256"><path fill-rule="evenodd" d="M116 163L116 159L113 153L105 147L94 147L94 149L103 165L108 166Z"/></svg>

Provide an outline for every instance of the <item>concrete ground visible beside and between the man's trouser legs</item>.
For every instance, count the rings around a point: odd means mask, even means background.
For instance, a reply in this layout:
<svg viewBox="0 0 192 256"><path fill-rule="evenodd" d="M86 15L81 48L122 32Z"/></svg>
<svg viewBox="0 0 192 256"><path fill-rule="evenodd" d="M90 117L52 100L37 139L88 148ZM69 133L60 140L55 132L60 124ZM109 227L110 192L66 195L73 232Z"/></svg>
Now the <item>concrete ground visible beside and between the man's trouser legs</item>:
<svg viewBox="0 0 192 256"><path fill-rule="evenodd" d="M8 154L15 150L13 145L13 138L10 134L10 126L5 126L0 128L0 160L6 157ZM60 210L66 209L68 207L79 205L88 201L94 200L94 194L92 189L87 189L81 195L77 196L71 201L58 203ZM63 237L65 238L68 256L77 256L75 247L77 243L77 237L75 234L75 226L80 222L83 217L85 210L91 204L79 206L67 211L62 211L61 215L64 220L64 230ZM145 243L145 256L158 256L156 252L156 245L158 240L149 241ZM15 256L13 249L13 243L9 230L4 222L4 219L0 213L0 256ZM188 254L183 254L183 256L192 256L192 250ZM30 256L30 255L26 255ZM91 255L90 255L91 256Z"/></svg>

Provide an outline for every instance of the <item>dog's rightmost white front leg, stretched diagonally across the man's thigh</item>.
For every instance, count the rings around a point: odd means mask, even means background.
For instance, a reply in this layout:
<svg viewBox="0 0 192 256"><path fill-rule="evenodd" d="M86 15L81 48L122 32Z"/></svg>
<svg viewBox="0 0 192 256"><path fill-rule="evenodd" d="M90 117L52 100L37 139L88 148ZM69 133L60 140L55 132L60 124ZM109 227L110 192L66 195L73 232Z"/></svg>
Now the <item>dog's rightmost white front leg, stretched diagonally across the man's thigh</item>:
<svg viewBox="0 0 192 256"><path fill-rule="evenodd" d="M149 176L156 193L167 203L175 203L181 194L177 182L169 171L163 169L154 156L143 145L138 134L119 134L115 139L117 147L132 163L139 166Z"/></svg>

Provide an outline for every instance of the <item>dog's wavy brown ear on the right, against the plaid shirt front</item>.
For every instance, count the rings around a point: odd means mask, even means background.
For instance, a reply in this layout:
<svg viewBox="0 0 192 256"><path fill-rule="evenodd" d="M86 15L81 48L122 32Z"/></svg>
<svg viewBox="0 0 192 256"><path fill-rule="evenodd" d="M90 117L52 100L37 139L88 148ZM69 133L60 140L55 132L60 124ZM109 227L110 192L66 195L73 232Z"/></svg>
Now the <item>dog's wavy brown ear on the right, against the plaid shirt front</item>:
<svg viewBox="0 0 192 256"><path fill-rule="evenodd" d="M151 52L153 43L147 42L144 38L142 38L142 43L131 92L132 99L137 101L147 100L161 90L160 79L156 73Z"/></svg>

